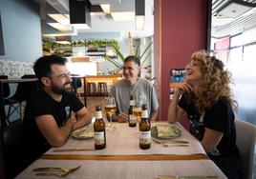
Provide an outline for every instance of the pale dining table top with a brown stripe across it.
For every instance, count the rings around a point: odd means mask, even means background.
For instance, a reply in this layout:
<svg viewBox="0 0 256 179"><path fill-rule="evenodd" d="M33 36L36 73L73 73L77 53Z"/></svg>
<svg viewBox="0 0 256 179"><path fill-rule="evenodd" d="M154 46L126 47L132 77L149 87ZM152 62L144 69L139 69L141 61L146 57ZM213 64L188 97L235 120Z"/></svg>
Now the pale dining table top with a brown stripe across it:
<svg viewBox="0 0 256 179"><path fill-rule="evenodd" d="M156 124L152 124L154 126ZM65 178L89 179L156 179L159 175L203 175L226 178L224 173L207 157L200 142L181 127L177 139L189 141L188 147L163 147L152 141L151 149L139 149L138 127L114 124L116 130L107 130L107 148L102 150L54 152L48 150L40 159L22 171L16 178L34 178L32 169L38 167L77 167ZM58 149L94 149L94 138L70 138ZM40 176L36 176L40 178ZM42 177L45 178L45 177ZM57 178L51 176L51 178Z"/></svg>

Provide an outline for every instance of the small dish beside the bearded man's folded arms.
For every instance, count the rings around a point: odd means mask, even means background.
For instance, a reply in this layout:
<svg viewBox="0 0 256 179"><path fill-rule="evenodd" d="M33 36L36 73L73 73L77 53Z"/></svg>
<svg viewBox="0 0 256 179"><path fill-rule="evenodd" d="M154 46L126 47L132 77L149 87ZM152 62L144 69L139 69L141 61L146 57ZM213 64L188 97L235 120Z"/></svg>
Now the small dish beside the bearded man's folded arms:
<svg viewBox="0 0 256 179"><path fill-rule="evenodd" d="M75 139L90 139L94 136L94 126L92 124L80 129L75 129L72 132L72 137L74 137Z"/></svg>

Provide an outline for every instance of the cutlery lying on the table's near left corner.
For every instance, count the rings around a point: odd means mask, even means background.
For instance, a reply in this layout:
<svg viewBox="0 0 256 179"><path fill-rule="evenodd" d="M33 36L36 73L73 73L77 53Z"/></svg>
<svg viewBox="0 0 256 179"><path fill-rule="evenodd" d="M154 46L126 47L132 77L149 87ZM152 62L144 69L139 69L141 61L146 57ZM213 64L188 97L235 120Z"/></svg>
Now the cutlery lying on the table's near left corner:
<svg viewBox="0 0 256 179"><path fill-rule="evenodd" d="M36 169L32 169L32 171L36 172L35 175L37 176L64 177L79 168L81 168L81 166L78 166L76 168L54 168L54 167L53 168L36 168Z"/></svg>

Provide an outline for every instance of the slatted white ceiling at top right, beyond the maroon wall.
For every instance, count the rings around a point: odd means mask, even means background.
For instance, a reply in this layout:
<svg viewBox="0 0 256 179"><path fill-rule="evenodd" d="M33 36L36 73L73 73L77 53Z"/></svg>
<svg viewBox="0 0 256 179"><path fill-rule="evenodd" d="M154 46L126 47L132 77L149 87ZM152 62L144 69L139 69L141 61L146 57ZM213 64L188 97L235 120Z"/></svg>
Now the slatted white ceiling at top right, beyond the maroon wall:
<svg viewBox="0 0 256 179"><path fill-rule="evenodd" d="M256 0L241 1L250 3L254 7L256 6ZM212 0L212 37L223 38L256 27L256 8L251 8L235 18L228 18L228 16L221 15L220 10L228 2L229 0Z"/></svg>

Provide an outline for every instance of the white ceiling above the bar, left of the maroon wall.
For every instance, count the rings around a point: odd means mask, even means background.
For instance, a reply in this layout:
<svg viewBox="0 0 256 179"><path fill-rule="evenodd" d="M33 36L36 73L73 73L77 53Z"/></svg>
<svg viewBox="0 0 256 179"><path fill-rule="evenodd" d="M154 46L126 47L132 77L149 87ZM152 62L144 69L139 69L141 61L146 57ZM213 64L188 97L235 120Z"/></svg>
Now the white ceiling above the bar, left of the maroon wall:
<svg viewBox="0 0 256 179"><path fill-rule="evenodd" d="M53 19L47 14L50 12L69 14L69 0L33 0L40 5L40 16L42 33L45 36L56 36L71 34L70 31L59 31L49 26ZM111 12L135 11L135 0L90 0L93 6L100 4L110 4ZM115 21L110 14L102 12L91 12L91 29L75 30L79 33L115 33L119 38L126 37L130 31L133 37L151 36L154 33L154 0L146 0L145 22L143 30L136 30L135 18L128 21Z"/></svg>

